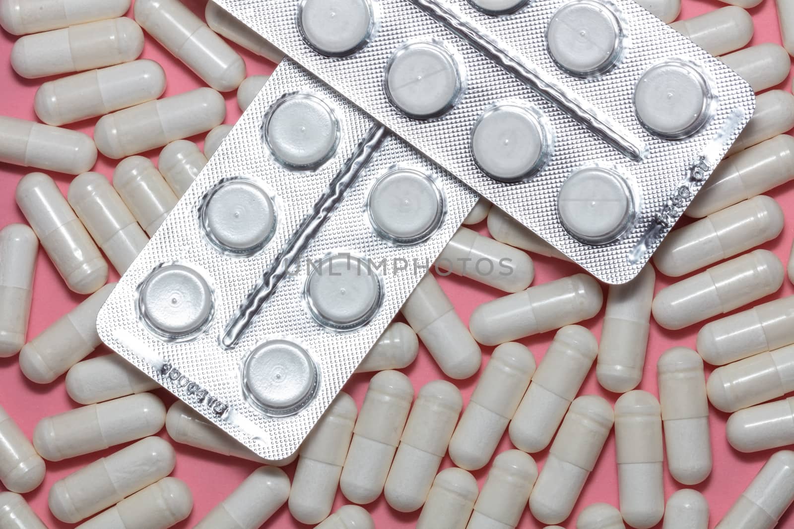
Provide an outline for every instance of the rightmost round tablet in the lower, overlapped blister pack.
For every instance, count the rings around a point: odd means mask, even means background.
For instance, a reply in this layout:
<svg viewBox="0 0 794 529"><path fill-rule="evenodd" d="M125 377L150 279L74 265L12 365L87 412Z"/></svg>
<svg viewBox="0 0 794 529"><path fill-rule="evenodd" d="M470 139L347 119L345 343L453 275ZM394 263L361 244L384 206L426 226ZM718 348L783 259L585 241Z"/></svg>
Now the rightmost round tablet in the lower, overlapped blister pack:
<svg viewBox="0 0 794 529"><path fill-rule="evenodd" d="M413 169L395 169L372 186L367 201L376 232L398 244L426 240L444 220L444 198L435 182Z"/></svg>

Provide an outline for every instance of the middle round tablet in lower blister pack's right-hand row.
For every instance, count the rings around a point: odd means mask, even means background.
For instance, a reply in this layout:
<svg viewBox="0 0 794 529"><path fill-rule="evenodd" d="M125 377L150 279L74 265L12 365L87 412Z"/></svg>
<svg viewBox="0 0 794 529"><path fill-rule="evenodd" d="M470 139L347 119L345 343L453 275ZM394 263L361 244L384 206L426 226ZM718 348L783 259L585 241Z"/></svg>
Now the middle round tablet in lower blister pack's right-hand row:
<svg viewBox="0 0 794 529"><path fill-rule="evenodd" d="M380 278L363 259L329 255L309 275L306 300L320 324L338 330L357 328L380 308Z"/></svg>

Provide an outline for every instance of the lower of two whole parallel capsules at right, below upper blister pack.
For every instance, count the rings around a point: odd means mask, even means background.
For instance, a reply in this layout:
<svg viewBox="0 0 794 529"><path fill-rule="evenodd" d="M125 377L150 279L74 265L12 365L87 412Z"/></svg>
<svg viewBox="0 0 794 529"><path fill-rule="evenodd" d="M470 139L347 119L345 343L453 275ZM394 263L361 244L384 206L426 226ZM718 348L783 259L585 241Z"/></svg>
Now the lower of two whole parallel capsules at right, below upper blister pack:
<svg viewBox="0 0 794 529"><path fill-rule="evenodd" d="M777 292L782 284L781 260L771 251L752 251L662 289L653 298L653 319L665 329L688 327Z"/></svg>

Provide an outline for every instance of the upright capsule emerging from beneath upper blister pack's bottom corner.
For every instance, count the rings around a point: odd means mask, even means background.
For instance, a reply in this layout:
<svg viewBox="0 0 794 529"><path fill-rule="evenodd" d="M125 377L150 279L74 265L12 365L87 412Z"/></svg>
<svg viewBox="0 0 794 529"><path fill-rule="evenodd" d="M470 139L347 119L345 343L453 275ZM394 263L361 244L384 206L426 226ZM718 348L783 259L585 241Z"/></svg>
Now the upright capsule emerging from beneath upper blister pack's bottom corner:
<svg viewBox="0 0 794 529"><path fill-rule="evenodd" d="M647 265L623 285L611 285L595 374L603 389L626 393L642 381L656 272Z"/></svg>

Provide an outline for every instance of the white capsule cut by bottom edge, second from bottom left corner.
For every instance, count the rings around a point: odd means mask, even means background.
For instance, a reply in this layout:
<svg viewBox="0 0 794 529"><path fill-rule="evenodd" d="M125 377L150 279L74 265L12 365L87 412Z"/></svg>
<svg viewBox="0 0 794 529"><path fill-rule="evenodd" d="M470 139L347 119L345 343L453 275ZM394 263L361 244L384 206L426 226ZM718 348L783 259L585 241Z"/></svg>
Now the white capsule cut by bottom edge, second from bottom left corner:
<svg viewBox="0 0 794 529"><path fill-rule="evenodd" d="M75 529L167 529L192 509L191 489L184 481L165 477Z"/></svg>

